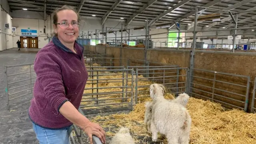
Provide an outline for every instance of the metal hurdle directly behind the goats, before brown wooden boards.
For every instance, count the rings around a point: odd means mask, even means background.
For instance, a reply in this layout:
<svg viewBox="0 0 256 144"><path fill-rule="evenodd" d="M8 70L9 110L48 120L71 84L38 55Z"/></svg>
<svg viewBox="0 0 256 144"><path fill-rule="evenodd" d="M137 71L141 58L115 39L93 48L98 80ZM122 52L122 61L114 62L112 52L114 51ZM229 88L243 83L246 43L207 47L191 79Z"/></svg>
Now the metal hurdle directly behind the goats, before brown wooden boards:
<svg viewBox="0 0 256 144"><path fill-rule="evenodd" d="M180 74L181 71L184 71L184 74ZM149 89L153 83L163 84L167 92L177 96L179 93L187 92L187 81L188 68L137 68L135 102L150 96Z"/></svg>

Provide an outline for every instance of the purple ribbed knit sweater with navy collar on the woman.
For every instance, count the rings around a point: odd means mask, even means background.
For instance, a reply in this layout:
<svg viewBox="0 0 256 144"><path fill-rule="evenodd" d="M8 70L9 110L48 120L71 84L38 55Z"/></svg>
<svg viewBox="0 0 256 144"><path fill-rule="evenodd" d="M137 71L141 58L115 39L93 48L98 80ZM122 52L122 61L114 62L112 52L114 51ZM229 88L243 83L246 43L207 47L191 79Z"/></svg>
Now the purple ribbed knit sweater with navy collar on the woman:
<svg viewBox="0 0 256 144"><path fill-rule="evenodd" d="M88 79L84 48L77 42L74 48L77 54L53 37L36 55L34 70L37 77L29 117L38 126L56 130L72 125L59 109L66 101L79 108Z"/></svg>

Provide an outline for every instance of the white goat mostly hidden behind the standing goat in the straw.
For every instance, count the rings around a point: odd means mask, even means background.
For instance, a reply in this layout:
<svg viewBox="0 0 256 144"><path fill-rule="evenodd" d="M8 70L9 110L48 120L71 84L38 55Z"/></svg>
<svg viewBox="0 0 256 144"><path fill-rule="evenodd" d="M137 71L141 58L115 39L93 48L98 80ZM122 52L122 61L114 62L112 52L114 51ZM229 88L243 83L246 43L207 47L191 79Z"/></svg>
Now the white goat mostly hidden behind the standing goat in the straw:
<svg viewBox="0 0 256 144"><path fill-rule="evenodd" d="M169 100L169 101L175 102L177 104L181 104L182 106L186 106L188 103L188 99L189 99L188 94L182 93L182 94L179 94L177 98ZM150 132L152 106L153 106L153 102L145 103L144 124L146 124L146 128L147 128L148 132Z"/></svg>

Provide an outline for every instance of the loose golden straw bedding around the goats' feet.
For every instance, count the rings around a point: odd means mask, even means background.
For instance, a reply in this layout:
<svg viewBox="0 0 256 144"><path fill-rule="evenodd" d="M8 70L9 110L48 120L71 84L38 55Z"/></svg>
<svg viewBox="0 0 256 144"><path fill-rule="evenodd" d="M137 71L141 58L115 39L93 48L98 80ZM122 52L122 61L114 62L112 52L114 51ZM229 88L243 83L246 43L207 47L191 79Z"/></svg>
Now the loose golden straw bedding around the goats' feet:
<svg viewBox="0 0 256 144"><path fill-rule="evenodd" d="M174 96L166 93L165 98L173 99ZM108 140L120 126L126 126L130 128L136 144L154 144L143 123L144 103L150 100L140 99L139 103L133 106L134 110L128 114L96 116L90 120L105 129ZM225 110L220 104L196 98L190 98L187 109L192 118L190 144L256 144L256 114L238 109ZM167 141L159 136L156 144L167 144Z"/></svg>

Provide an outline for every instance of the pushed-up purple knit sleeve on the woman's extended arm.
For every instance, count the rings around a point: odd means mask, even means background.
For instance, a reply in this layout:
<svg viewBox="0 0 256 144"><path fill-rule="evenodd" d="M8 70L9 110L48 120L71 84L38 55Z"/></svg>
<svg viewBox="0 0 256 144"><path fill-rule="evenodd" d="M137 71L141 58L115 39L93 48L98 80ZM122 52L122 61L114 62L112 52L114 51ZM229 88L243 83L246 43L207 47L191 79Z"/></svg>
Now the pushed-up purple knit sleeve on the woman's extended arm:
<svg viewBox="0 0 256 144"><path fill-rule="evenodd" d="M44 89L46 102L59 112L60 107L68 101L68 98L65 95L61 67L57 60L58 57L52 50L42 49L34 61L34 70L38 82Z"/></svg>

